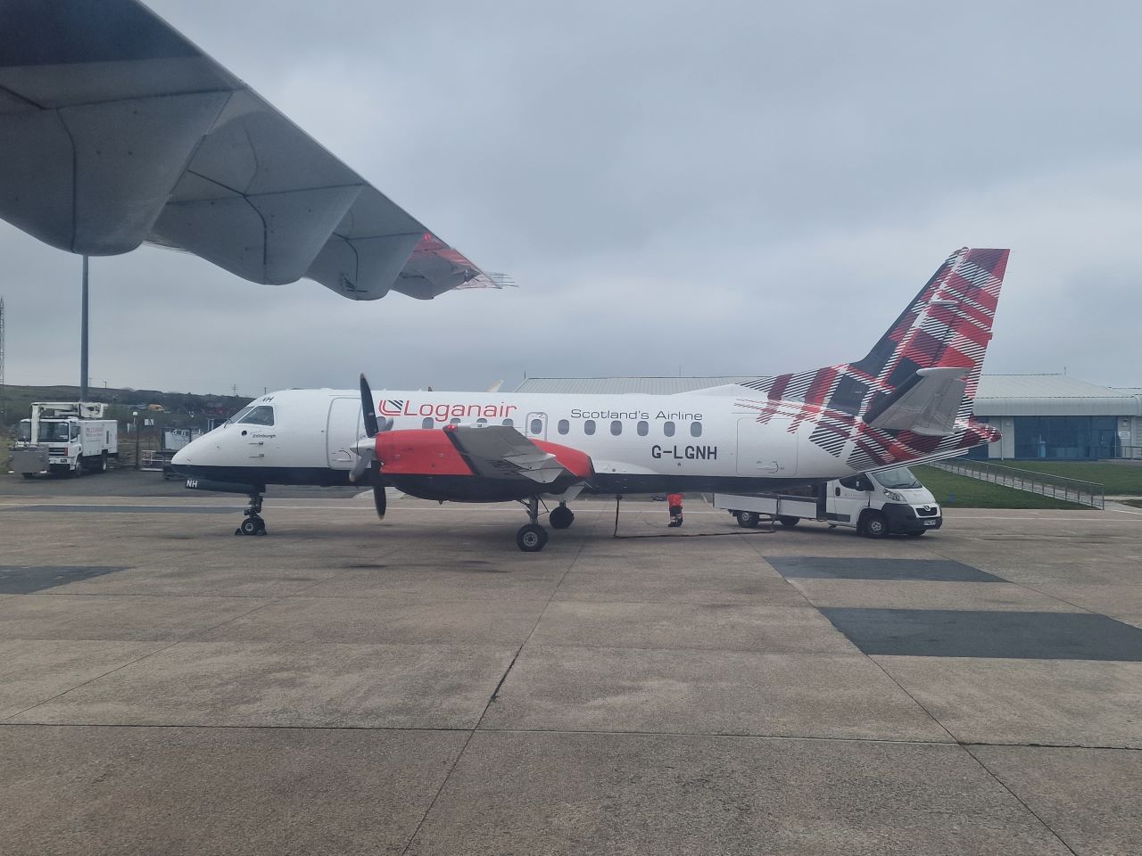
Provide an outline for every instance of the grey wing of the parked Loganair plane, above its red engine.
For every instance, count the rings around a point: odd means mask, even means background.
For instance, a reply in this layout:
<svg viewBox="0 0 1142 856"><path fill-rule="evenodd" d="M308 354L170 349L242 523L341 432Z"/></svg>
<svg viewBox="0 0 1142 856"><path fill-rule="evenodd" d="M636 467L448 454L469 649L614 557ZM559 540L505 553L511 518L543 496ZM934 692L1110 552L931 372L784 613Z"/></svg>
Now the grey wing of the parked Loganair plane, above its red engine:
<svg viewBox="0 0 1142 856"><path fill-rule="evenodd" d="M550 484L565 473L582 478L590 476L590 459L587 455L577 453L582 460L573 462L573 469L569 469L553 452L536 445L509 426L457 425L444 428L444 434L477 476L529 478L539 484Z"/></svg>

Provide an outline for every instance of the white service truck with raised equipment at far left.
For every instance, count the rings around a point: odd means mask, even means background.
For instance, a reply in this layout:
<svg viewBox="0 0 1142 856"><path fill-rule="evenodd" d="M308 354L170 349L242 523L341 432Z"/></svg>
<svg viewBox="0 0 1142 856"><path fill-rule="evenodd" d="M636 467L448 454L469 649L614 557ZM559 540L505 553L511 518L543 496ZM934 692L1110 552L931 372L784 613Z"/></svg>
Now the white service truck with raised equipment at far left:
<svg viewBox="0 0 1142 856"><path fill-rule="evenodd" d="M103 473L119 457L119 423L104 419L106 404L33 402L11 445L11 467L24 478Z"/></svg>

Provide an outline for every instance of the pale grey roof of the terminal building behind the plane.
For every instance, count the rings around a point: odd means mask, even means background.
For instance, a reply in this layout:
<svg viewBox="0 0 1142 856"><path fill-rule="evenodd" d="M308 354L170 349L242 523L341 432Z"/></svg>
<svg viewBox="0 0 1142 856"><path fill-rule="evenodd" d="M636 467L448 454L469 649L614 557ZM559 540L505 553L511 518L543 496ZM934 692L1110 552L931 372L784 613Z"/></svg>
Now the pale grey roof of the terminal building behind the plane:
<svg viewBox="0 0 1142 856"><path fill-rule="evenodd" d="M741 383L761 374L698 378L528 378L517 393L604 395L640 393L675 395L695 389ZM1069 374L984 374L975 396L980 417L1142 415L1142 395L1111 389Z"/></svg>

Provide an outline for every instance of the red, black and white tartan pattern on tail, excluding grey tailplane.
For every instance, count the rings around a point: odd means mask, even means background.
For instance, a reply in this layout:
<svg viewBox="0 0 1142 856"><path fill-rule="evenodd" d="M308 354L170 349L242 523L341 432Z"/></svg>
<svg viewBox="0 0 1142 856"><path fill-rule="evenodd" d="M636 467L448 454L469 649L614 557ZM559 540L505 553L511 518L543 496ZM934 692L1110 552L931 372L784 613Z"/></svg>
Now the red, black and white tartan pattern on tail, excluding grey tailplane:
<svg viewBox="0 0 1142 856"><path fill-rule="evenodd" d="M948 257L862 360L742 383L763 398L737 404L758 422L789 420L789 430L812 422L809 441L855 469L941 458L991 443L999 433L972 419L975 390L995 318L1010 250L964 248ZM864 421L918 369L964 369L966 388L956 428L946 437L872 428Z"/></svg>

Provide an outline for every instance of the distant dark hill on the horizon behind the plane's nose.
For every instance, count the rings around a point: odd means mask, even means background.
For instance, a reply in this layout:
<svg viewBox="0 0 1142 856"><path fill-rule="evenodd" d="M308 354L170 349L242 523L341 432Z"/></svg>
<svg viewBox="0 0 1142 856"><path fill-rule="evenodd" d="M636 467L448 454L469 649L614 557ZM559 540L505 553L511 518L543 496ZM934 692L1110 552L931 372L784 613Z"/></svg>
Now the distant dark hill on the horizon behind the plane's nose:
<svg viewBox="0 0 1142 856"><path fill-rule="evenodd" d="M121 422L131 421L131 413L139 411L154 420L156 428L203 428L208 419L225 419L249 403L241 395L196 395L194 393L163 393L158 389L114 389L89 387L88 401L111 405L107 415ZM0 431L27 419L32 402L74 402L79 387L0 387ZM151 410L158 405L162 410Z"/></svg>

